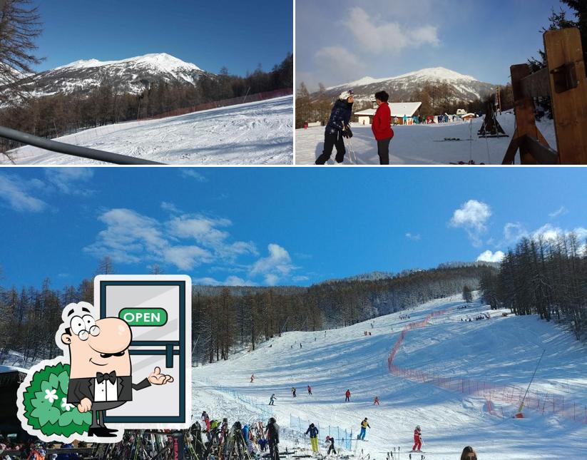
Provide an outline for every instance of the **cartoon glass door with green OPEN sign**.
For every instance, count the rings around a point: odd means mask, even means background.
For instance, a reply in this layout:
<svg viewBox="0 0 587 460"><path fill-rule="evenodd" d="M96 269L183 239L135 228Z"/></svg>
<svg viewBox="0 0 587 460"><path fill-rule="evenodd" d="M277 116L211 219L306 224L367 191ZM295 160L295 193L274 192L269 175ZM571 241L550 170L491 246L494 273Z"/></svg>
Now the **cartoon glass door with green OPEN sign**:
<svg viewBox="0 0 587 460"><path fill-rule="evenodd" d="M187 275L98 275L94 302L100 317L131 327L133 371L159 367L171 384L134 392L132 401L108 409L106 423L120 428L189 428L192 409L192 287Z"/></svg>

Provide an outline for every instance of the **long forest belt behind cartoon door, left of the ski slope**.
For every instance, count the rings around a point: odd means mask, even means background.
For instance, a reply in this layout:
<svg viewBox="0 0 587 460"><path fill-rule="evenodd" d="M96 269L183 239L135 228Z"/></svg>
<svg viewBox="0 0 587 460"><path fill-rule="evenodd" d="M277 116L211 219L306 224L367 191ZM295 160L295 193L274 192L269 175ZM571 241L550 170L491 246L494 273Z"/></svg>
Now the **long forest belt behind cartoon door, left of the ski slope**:
<svg viewBox="0 0 587 460"><path fill-rule="evenodd" d="M198 287L192 294L195 362L228 359L235 350L293 330L343 327L429 300L476 289L491 267L450 267L404 272L382 280L334 280L311 287ZM111 274L105 257L96 274ZM154 267L152 273L160 273ZM53 337L71 302L93 302L93 280L78 286L0 288L0 364L9 350L29 362L61 354Z"/></svg>

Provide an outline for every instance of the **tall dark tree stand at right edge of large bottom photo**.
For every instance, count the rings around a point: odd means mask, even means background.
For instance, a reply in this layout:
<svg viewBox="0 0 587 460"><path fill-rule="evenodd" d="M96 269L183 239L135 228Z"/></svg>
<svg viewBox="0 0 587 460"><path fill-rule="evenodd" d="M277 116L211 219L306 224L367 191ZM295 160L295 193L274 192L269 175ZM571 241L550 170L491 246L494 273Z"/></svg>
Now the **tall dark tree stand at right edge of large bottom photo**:
<svg viewBox="0 0 587 460"><path fill-rule="evenodd" d="M480 289L492 309L568 324L581 339L587 329L587 245L574 233L524 238L507 252L499 272L481 277Z"/></svg>

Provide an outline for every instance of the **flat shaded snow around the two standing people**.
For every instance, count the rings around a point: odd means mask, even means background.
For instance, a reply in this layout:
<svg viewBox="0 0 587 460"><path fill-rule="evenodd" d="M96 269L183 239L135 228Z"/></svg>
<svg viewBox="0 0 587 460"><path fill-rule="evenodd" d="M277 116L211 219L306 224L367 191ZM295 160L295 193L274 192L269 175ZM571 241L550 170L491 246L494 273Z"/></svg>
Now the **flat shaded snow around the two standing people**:
<svg viewBox="0 0 587 460"><path fill-rule="evenodd" d="M393 126L394 138L389 145L389 163L395 165L448 165L464 161L469 157L479 163L501 165L504 155L515 131L516 118L512 113L502 113L497 116L499 124L508 138L479 138L477 131L483 124L483 118L475 118L472 122L473 140L469 141L469 123L440 123L435 125ZM371 126L361 126L351 123L352 146L357 155L359 165L378 165L377 142L373 137ZM543 133L548 144L556 150L556 136L551 120L536 123ZM312 165L322 154L324 148L324 126L315 128L297 129L295 131L295 163L298 165ZM459 138L460 142L438 142L444 138ZM347 154L344 155L344 164L351 164L349 159L349 144ZM489 155L488 155L489 150ZM471 155L472 152L472 155ZM336 148L332 150L332 157L327 164L334 164ZM519 155L516 155L519 162Z"/></svg>

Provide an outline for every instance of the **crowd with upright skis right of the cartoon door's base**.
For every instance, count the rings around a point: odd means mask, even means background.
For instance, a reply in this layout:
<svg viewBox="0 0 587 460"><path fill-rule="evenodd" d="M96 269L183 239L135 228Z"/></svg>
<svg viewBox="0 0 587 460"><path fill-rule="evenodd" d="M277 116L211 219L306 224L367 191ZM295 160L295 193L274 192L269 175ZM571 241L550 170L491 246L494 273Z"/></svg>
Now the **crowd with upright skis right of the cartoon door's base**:
<svg viewBox="0 0 587 460"><path fill-rule="evenodd" d="M233 449L236 449L237 454L240 458L241 447L246 449L249 456L257 456L269 448L271 460L279 460L279 434L280 427L277 425L275 417L271 417L267 422L267 426L264 428L261 421L256 421L252 424L245 424L244 426L240 421L235 421L232 428L228 426L228 419L224 418L222 424L219 424L217 420L210 420L207 412L203 412L201 416L203 422L203 429L208 444L210 444L210 450L213 446L216 447L219 456L228 458L230 452L226 452L225 446L232 439ZM199 424L196 422L193 424L192 429ZM223 450L224 449L224 450ZM243 452L244 453L244 452ZM228 454L228 455L227 455Z"/></svg>

